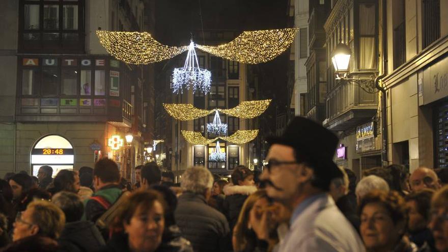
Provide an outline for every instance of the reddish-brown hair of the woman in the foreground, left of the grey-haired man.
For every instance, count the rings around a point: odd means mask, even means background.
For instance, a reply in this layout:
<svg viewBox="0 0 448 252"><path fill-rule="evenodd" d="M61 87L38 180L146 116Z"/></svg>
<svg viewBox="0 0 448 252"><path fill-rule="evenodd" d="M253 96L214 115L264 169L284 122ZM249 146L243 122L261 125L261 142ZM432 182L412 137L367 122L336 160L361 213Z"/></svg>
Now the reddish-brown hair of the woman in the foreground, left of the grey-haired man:
<svg viewBox="0 0 448 252"><path fill-rule="evenodd" d="M130 223L132 216L138 209L149 210L154 205L154 202L158 201L162 207L163 212L166 211L166 203L163 200L162 195L153 189L139 190L133 192L127 199L120 205L118 214L113 223L113 229L115 232L120 232L124 229L124 223Z"/></svg>

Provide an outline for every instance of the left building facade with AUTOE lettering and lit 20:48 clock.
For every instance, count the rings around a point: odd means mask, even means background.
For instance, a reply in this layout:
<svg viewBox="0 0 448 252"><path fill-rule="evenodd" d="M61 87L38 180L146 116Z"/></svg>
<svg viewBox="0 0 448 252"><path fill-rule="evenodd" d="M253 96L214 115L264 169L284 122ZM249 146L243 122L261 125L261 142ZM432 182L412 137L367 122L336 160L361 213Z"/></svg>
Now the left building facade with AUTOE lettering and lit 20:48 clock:
<svg viewBox="0 0 448 252"><path fill-rule="evenodd" d="M110 57L95 32L143 31L144 2L7 2L0 15L7 35L0 55L0 174L36 176L44 164L54 173L93 167L107 156L131 179L150 137L146 94L153 83L147 68ZM130 146L126 134L133 135Z"/></svg>

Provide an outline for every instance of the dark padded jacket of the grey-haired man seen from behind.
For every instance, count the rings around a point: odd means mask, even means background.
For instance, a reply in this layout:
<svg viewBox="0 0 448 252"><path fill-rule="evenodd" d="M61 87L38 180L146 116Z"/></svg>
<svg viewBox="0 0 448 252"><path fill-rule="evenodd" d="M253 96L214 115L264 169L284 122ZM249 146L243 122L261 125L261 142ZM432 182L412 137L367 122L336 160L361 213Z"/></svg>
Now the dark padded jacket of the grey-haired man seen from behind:
<svg viewBox="0 0 448 252"><path fill-rule="evenodd" d="M203 195L184 192L174 213L176 223L194 251L228 251L230 230L226 216L207 205Z"/></svg>

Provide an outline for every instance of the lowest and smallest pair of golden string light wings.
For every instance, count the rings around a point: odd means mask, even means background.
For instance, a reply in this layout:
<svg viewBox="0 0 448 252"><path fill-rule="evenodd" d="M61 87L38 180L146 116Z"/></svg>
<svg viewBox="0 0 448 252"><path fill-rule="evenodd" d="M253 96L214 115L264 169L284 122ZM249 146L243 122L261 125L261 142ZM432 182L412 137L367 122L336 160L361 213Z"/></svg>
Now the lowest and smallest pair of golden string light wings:
<svg viewBox="0 0 448 252"><path fill-rule="evenodd" d="M219 138L230 143L242 145L254 140L258 135L258 129L237 130L231 136L219 136L213 139L205 138L201 132L196 131L182 130L181 133L185 140L192 145L209 145Z"/></svg>

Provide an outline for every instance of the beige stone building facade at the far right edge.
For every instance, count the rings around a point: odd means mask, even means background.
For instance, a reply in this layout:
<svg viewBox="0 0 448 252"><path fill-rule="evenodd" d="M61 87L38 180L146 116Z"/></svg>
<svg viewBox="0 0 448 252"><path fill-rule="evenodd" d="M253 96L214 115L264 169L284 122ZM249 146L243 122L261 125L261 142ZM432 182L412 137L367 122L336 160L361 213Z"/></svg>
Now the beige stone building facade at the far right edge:
<svg viewBox="0 0 448 252"><path fill-rule="evenodd" d="M447 167L448 2L387 1L389 160Z"/></svg>

